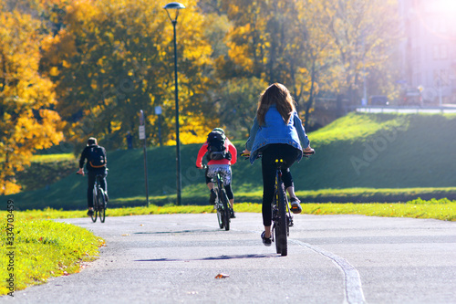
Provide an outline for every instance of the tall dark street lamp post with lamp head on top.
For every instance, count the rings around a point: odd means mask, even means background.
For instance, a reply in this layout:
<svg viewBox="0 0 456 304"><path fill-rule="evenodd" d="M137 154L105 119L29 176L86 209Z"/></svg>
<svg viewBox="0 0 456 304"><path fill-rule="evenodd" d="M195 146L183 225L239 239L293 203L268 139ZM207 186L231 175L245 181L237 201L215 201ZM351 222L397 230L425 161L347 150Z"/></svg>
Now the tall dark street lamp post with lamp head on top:
<svg viewBox="0 0 456 304"><path fill-rule="evenodd" d="M178 98L178 85L177 85L177 43L176 43L176 24L179 10L185 8L178 2L171 2L163 7L170 17L172 27L174 29L174 85L175 85L175 99L176 99L176 190L177 202L181 204L181 142L179 139L179 98ZM170 14L171 11L171 14ZM173 15L173 16L171 16Z"/></svg>

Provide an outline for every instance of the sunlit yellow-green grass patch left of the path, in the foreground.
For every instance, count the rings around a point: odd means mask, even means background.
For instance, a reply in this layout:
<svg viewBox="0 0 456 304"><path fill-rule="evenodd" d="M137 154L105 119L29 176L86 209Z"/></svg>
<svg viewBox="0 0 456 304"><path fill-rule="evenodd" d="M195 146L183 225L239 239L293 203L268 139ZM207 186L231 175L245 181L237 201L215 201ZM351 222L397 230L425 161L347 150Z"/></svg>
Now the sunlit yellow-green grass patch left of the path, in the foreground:
<svg viewBox="0 0 456 304"><path fill-rule="evenodd" d="M4 216L2 219L6 223ZM98 247L104 245L101 238L76 225L27 219L20 213L16 213L12 231L14 241L5 233L0 236L0 295L78 272L84 262L98 256ZM14 290L6 278L13 278Z"/></svg>

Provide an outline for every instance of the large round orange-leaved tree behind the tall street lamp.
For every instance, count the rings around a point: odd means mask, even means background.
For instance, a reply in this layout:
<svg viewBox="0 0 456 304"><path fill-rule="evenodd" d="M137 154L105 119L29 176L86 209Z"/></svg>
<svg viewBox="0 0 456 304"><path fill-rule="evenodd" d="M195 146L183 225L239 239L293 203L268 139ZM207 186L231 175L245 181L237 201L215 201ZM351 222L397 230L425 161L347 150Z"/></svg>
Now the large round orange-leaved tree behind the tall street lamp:
<svg viewBox="0 0 456 304"><path fill-rule="evenodd" d="M211 46L202 35L203 16L195 1L178 19L181 142L201 142L212 112ZM97 136L117 148L127 131L147 115L148 138L158 142L154 107L163 110L164 142L175 142L174 59L171 22L159 3L81 0L65 7L62 29L43 45L42 68L57 84L57 109L69 121L75 142ZM215 121L217 121L215 119ZM196 134L196 135L195 135Z"/></svg>

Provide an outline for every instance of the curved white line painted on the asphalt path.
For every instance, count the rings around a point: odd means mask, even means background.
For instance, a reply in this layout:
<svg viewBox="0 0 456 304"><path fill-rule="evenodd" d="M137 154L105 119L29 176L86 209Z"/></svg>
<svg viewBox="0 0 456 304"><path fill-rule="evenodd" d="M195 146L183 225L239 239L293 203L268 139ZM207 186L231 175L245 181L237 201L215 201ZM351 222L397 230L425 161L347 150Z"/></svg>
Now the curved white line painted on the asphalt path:
<svg viewBox="0 0 456 304"><path fill-rule="evenodd" d="M313 246L301 241L297 241L295 239L288 239L290 242L293 242L300 246L306 246L307 248L315 251L316 253L330 258L333 263L335 263L342 272L344 273L345 278L345 301L349 304L355 303L366 303L366 299L364 298L363 288L361 286L361 278L359 278L358 270L353 267L350 263L347 262L346 259L342 257L338 257L335 254L326 251L323 248L318 246Z"/></svg>

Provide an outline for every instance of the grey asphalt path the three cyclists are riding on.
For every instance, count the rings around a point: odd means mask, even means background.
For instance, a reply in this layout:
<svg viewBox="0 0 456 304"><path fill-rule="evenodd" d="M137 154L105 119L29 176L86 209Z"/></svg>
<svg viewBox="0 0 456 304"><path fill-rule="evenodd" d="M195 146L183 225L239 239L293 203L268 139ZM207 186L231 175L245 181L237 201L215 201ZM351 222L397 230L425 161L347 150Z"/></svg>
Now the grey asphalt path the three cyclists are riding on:
<svg viewBox="0 0 456 304"><path fill-rule="evenodd" d="M454 222L295 215L287 257L262 244L260 214L230 231L215 214L65 222L103 237L100 257L1 303L456 303Z"/></svg>

